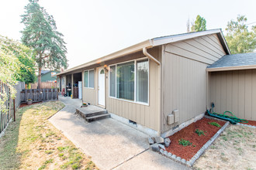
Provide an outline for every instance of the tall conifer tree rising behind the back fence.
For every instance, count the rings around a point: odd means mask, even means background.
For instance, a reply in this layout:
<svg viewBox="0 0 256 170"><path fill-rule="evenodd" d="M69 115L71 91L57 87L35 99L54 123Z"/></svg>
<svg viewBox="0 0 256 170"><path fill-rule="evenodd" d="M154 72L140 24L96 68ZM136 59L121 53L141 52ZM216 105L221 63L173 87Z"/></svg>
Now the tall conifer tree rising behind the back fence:
<svg viewBox="0 0 256 170"><path fill-rule="evenodd" d="M63 35L57 31L54 17L37 2L37 0L29 0L29 4L25 6L26 12L21 15L25 28L21 32L22 42L35 50L38 88L40 88L43 68L51 70L67 68L67 49Z"/></svg>

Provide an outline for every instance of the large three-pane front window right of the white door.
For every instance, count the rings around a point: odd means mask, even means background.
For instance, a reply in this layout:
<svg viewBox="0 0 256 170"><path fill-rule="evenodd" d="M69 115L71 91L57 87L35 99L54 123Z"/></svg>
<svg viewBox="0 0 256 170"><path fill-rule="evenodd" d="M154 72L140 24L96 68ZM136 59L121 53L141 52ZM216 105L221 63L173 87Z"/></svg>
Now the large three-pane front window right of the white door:
<svg viewBox="0 0 256 170"><path fill-rule="evenodd" d="M148 59L109 66L109 96L147 104L148 71Z"/></svg>

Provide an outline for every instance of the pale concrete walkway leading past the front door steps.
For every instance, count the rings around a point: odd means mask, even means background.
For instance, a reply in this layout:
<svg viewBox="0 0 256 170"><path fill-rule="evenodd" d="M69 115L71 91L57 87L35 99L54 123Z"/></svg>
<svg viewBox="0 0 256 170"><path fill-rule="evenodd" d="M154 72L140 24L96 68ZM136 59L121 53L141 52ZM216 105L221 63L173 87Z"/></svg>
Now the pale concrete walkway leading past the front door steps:
<svg viewBox="0 0 256 170"><path fill-rule="evenodd" d="M74 114L81 100L59 97L66 107L49 121L100 169L189 169L151 151L147 134L112 118L87 123Z"/></svg>

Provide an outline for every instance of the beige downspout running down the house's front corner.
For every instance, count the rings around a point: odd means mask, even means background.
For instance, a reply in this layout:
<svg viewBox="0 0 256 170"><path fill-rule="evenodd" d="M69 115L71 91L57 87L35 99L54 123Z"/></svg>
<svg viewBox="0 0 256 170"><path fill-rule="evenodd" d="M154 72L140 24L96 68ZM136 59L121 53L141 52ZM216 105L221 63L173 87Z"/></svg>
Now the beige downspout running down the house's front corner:
<svg viewBox="0 0 256 170"><path fill-rule="evenodd" d="M162 107L161 107L161 79L162 79L162 76L161 76L161 63L154 58L154 56L151 56L150 53L147 53L147 49L146 47L144 47L142 49L143 53L145 56L147 56L149 59L153 60L154 63L157 63L158 65L158 76L159 76L159 79L158 80L158 88L159 88L159 93L158 93L158 99L159 99L159 114L157 115L157 136L161 136L161 111L162 111Z"/></svg>

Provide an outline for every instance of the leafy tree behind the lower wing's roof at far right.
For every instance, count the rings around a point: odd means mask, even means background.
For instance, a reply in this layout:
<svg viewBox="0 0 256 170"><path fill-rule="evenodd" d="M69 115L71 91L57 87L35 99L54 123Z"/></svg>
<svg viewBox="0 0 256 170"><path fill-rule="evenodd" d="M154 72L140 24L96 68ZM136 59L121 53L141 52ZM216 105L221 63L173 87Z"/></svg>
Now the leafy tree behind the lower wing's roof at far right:
<svg viewBox="0 0 256 170"><path fill-rule="evenodd" d="M237 21L227 22L227 35L225 36L230 52L250 53L256 49L256 26L252 26L251 32L245 24L247 18L244 15L238 15Z"/></svg>

